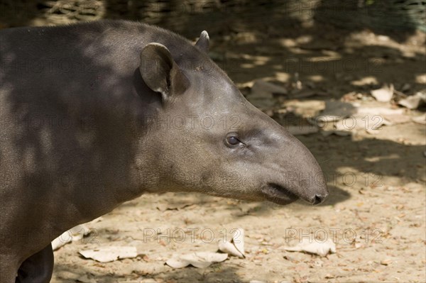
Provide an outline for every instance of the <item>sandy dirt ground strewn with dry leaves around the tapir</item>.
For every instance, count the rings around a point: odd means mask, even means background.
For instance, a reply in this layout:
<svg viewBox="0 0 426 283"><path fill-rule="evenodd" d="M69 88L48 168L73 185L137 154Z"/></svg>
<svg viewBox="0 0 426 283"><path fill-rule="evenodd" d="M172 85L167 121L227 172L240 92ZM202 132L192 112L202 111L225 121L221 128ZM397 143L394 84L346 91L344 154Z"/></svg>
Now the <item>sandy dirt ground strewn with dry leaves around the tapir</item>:
<svg viewBox="0 0 426 283"><path fill-rule="evenodd" d="M320 128L297 135L327 176L330 196L320 206L143 195L88 223L91 234L56 250L52 282L426 282L426 131L412 120L425 108L398 106L402 96L395 94L378 102L370 92L383 84L409 96L425 91L425 33L349 31L311 21L280 26L265 18L245 26L231 18L206 29L211 57L268 115L283 126L307 125L324 101L341 101L403 109L398 121L373 132L327 135ZM196 28L185 35L195 40L204 26ZM256 79L288 94L259 102L250 95ZM165 265L175 254L216 251L235 228L244 228L246 258L205 269ZM327 257L283 249L324 235L337 247ZM135 246L140 255L100 263L78 253L109 245Z"/></svg>

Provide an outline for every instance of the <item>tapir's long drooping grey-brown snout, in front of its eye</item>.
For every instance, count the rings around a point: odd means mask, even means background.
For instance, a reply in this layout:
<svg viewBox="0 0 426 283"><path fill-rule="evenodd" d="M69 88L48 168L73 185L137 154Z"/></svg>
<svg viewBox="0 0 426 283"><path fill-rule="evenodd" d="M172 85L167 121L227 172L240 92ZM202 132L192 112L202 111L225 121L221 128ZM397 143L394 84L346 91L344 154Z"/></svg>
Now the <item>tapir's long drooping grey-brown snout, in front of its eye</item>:
<svg viewBox="0 0 426 283"><path fill-rule="evenodd" d="M248 162L256 172L249 178L252 182L260 180L263 197L276 204L289 204L297 199L321 204L329 194L327 182L310 150L266 114L256 112L254 116L259 117L257 123L260 125L257 126L263 131L251 140L245 138L250 140L247 143L253 143L253 148L258 147L258 150L253 149L257 159ZM256 122L250 123L253 124ZM256 139L261 140L259 145L254 142Z"/></svg>

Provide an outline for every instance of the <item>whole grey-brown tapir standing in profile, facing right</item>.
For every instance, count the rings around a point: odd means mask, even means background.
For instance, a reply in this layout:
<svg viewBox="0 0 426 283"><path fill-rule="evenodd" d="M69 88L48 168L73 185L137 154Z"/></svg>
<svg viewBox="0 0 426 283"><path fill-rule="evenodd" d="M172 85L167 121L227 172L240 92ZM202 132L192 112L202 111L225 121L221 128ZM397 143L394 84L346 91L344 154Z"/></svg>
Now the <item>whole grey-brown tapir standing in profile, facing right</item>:
<svg viewBox="0 0 426 283"><path fill-rule="evenodd" d="M49 282L51 240L144 193L325 199L208 48L128 21L0 30L0 282Z"/></svg>

